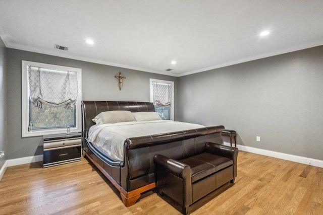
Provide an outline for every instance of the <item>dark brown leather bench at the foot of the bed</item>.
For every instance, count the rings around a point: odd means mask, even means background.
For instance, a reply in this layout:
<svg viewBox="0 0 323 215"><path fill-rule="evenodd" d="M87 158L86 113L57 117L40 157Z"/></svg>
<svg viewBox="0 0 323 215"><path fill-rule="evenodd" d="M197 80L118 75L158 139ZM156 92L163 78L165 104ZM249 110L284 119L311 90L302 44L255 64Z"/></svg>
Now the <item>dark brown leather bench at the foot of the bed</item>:
<svg viewBox="0 0 323 215"><path fill-rule="evenodd" d="M188 213L189 205L237 176L238 149L206 142L203 153L178 160L155 155L155 177L160 194L166 194Z"/></svg>

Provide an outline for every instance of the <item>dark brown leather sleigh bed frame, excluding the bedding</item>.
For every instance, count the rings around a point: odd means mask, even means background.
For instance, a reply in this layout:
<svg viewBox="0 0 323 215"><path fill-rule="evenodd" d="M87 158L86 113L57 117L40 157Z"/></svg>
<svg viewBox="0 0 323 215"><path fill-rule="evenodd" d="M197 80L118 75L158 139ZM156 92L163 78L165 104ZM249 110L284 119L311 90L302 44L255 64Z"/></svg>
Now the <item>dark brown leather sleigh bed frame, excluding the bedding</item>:
<svg viewBox="0 0 323 215"><path fill-rule="evenodd" d="M156 187L153 157L156 154L173 159L189 157L205 149L206 142L223 144L224 126L198 127L171 132L125 138L122 157L115 158L95 146L89 138L92 120L101 112L131 111L154 112L150 102L82 101L82 154L120 191L126 206L136 203L141 193ZM94 127L93 126L93 127Z"/></svg>

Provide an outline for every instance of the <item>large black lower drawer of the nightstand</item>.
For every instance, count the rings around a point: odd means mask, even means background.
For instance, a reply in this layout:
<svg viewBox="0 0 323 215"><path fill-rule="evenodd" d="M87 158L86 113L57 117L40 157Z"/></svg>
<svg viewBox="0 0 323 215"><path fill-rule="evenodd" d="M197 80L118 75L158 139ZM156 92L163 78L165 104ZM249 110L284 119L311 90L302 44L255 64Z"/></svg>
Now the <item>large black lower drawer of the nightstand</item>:
<svg viewBox="0 0 323 215"><path fill-rule="evenodd" d="M44 150L43 167L81 160L81 146Z"/></svg>

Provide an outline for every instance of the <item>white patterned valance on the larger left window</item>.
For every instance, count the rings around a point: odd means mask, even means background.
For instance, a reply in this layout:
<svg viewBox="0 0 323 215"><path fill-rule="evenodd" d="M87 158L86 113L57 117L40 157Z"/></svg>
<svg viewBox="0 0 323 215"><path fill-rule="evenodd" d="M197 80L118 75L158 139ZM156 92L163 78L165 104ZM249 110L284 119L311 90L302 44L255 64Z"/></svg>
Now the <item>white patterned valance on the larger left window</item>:
<svg viewBox="0 0 323 215"><path fill-rule="evenodd" d="M29 97L34 106L74 107L78 91L75 71L28 66L28 76Z"/></svg>

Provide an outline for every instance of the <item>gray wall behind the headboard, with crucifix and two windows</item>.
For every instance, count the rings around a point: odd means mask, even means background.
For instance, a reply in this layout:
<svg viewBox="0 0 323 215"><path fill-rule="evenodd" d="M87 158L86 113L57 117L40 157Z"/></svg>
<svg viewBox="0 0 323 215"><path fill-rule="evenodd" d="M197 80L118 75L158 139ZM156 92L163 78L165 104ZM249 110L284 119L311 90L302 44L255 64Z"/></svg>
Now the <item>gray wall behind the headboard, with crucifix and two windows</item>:
<svg viewBox="0 0 323 215"><path fill-rule="evenodd" d="M21 60L82 68L82 100L149 101L150 78L174 81L175 86L178 79L7 48L8 159L42 154L42 137L21 137ZM126 77L121 91L115 78L119 71Z"/></svg>

